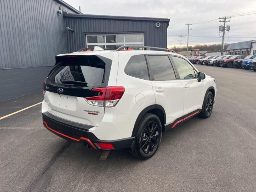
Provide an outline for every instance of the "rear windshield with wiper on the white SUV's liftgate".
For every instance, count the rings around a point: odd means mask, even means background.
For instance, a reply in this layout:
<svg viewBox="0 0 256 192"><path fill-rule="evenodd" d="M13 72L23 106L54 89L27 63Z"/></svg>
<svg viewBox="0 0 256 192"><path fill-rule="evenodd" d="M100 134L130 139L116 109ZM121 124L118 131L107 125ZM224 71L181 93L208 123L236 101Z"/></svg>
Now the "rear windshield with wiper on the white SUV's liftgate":
<svg viewBox="0 0 256 192"><path fill-rule="evenodd" d="M50 73L52 83L93 86L104 83L105 63L97 56L62 58Z"/></svg>

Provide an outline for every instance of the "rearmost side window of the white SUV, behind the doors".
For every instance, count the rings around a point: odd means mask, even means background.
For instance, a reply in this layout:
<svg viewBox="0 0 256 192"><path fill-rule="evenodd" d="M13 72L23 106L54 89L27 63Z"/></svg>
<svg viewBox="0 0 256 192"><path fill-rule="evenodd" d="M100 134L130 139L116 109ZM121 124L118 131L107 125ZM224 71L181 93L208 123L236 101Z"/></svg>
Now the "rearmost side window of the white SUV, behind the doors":
<svg viewBox="0 0 256 192"><path fill-rule="evenodd" d="M144 55L134 55L130 58L127 65L124 68L124 72L130 76L149 79L148 67Z"/></svg>

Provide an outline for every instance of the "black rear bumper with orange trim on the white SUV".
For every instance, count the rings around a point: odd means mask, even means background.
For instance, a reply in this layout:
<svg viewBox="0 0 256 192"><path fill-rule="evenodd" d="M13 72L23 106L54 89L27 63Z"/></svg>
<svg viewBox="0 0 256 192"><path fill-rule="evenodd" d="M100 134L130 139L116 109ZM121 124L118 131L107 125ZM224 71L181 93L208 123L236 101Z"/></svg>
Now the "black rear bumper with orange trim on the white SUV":
<svg viewBox="0 0 256 192"><path fill-rule="evenodd" d="M93 126L78 124L68 120L64 120L57 116L45 112L42 114L43 124L50 132L70 141L87 142L96 150L120 150L131 148L133 146L134 137L118 139L118 140L100 140L92 132L88 130ZM113 148L100 148L98 143L112 144Z"/></svg>

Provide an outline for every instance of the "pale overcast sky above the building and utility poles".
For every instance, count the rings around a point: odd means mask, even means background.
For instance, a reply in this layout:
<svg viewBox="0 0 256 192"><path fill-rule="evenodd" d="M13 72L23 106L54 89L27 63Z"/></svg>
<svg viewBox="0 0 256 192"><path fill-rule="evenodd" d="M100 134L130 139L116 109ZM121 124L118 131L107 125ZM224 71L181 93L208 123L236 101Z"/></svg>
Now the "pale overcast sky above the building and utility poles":
<svg viewBox="0 0 256 192"><path fill-rule="evenodd" d="M218 18L233 16L228 22L230 32L225 42L256 40L256 0L64 0L83 14L140 16L170 18L167 33L168 46L180 45L178 35L184 35L182 45L221 43L218 33ZM214 20L216 19L216 20ZM196 24L200 22L208 23ZM200 37L198 37L200 36Z"/></svg>

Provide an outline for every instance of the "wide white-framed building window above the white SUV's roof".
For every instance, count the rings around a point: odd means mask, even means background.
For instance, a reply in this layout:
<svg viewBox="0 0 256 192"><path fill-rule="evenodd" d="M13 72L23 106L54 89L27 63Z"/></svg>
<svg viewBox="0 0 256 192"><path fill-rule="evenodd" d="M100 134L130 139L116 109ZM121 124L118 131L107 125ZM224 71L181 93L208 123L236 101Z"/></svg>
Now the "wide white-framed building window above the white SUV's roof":
<svg viewBox="0 0 256 192"><path fill-rule="evenodd" d="M144 46L144 34L97 34L86 35L87 48L117 49L123 45Z"/></svg>

